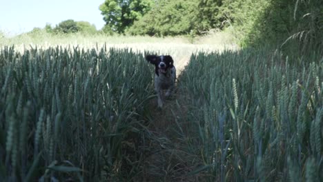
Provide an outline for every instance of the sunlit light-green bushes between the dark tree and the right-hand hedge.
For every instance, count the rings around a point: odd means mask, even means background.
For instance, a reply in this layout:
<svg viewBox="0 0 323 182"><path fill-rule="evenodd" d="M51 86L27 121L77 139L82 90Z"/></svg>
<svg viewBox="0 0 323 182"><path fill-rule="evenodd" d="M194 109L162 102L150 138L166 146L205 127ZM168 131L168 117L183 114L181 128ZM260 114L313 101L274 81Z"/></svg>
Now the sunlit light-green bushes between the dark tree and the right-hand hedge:
<svg viewBox="0 0 323 182"><path fill-rule="evenodd" d="M161 0L130 28L130 34L179 35L205 34L213 28L224 28L222 0Z"/></svg>

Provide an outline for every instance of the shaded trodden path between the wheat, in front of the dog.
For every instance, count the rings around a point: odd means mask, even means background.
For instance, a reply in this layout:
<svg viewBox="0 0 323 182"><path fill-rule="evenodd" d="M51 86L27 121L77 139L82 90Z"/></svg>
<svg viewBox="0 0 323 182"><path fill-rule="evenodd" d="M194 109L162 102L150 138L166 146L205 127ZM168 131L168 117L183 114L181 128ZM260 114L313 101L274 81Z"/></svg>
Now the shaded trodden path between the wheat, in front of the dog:
<svg viewBox="0 0 323 182"><path fill-rule="evenodd" d="M155 104L155 101L152 102ZM177 138L176 119L181 112L176 101L168 101L164 110L154 108L148 125L153 140L144 159L144 181L195 181L186 176L193 165L183 150L183 143Z"/></svg>

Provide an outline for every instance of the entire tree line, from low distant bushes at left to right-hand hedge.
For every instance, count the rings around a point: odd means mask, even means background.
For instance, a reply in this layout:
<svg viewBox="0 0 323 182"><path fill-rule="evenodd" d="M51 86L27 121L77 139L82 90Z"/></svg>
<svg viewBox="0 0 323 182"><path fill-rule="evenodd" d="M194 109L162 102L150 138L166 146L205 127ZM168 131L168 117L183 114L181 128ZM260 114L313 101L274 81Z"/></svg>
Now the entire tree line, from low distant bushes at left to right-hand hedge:
<svg viewBox="0 0 323 182"><path fill-rule="evenodd" d="M231 30L241 45L300 45L323 50L322 0L103 0L106 25L62 21L47 32L192 37Z"/></svg>

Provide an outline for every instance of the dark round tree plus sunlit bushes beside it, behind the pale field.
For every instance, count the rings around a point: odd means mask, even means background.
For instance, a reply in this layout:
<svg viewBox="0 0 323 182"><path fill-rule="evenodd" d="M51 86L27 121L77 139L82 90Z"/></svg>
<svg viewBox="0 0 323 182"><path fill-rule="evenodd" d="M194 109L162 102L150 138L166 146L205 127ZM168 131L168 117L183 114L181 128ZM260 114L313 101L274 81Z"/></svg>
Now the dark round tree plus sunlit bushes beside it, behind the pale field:
<svg viewBox="0 0 323 182"><path fill-rule="evenodd" d="M106 0L99 9L106 21L105 32L175 36L223 28L222 3L222 0Z"/></svg>

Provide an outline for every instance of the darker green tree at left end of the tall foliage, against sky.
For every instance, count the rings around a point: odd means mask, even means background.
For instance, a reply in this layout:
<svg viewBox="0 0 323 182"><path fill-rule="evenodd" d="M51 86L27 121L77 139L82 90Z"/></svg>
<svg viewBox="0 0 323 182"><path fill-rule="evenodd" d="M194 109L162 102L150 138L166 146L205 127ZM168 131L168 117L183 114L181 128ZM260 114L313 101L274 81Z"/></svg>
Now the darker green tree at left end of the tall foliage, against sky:
<svg viewBox="0 0 323 182"><path fill-rule="evenodd" d="M106 0L99 6L108 26L104 30L124 33L134 21L150 10L153 3L153 0Z"/></svg>

